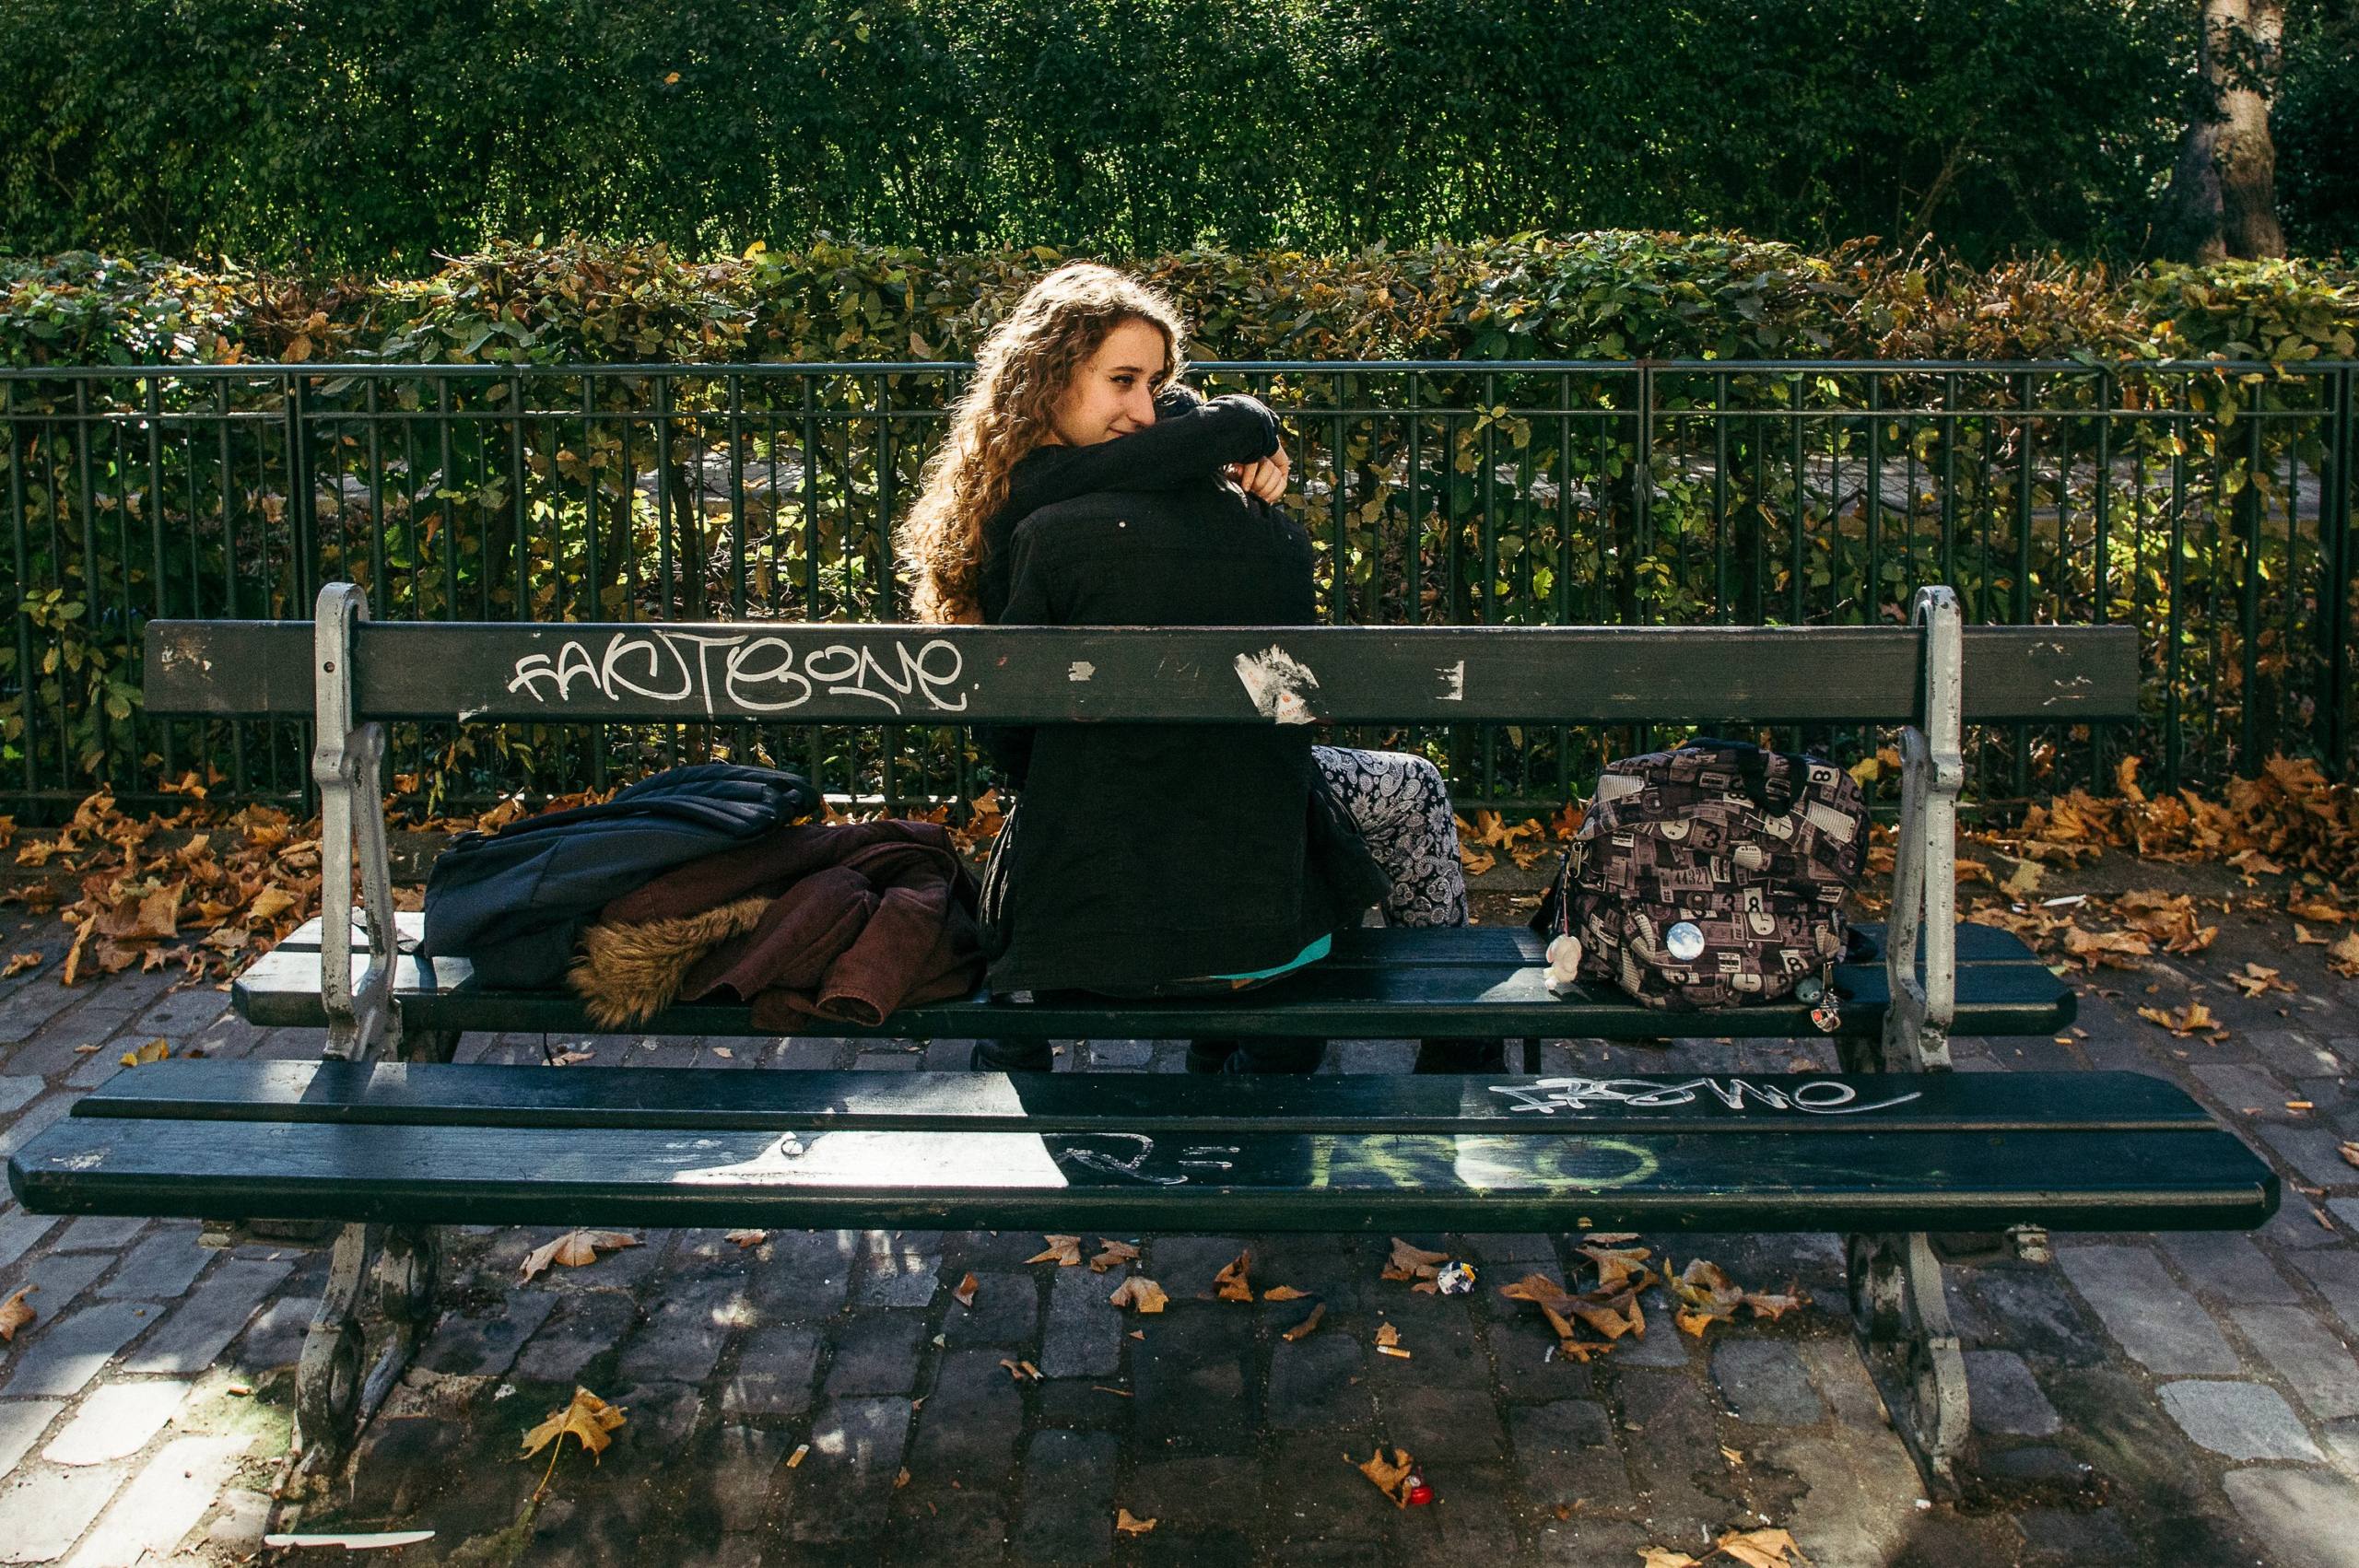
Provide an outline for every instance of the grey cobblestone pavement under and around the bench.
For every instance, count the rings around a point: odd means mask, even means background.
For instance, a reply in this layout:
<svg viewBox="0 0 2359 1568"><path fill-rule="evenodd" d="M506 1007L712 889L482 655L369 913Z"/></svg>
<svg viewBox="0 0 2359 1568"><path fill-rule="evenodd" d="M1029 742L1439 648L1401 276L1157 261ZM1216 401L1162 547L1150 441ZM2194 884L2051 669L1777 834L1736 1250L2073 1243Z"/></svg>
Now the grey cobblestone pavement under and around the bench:
<svg viewBox="0 0 2359 1568"><path fill-rule="evenodd" d="M2121 858L2097 875L2189 884ZM1644 1342L1569 1365L1491 1290L1562 1271L1564 1236L1413 1238L1486 1264L1472 1299L1378 1283L1382 1238L1144 1236L1144 1273L1172 1306L1128 1318L1104 1304L1111 1276L1026 1266L1033 1233L771 1233L741 1250L646 1231L644 1247L519 1285L519 1259L554 1231L486 1228L453 1238L441 1327L302 1528L427 1528L403 1561L477 1566L1637 1563L1644 1544L1701 1556L1722 1528L1762 1523L1821 1568L2359 1563L2359 1170L2335 1151L2359 1139L2359 1009L2317 948L2284 948L2284 915L2220 922L2199 960L2092 976L2085 1037L1958 1042L1965 1070L2168 1073L2286 1179L2284 1212L2253 1236L2059 1236L2055 1264L1949 1271L1977 1422L1963 1507L1920 1500L1852 1351L1833 1236L1649 1238L1753 1285L1798 1276L1816 1306L1698 1344L1656 1299ZM52 962L0 993L5 1148L153 1037L175 1054L316 1054L314 1035L255 1030L224 993L172 993L167 976L61 990L57 924L21 922L9 941ZM2217 981L2248 957L2302 990L2246 1000ZM2229 1026L2222 1045L2135 1019L2189 988ZM594 1052L571 1070L965 1059L948 1040L564 1045ZM540 1049L540 1035L469 1035L460 1059ZM1406 1061L1404 1042L1342 1042L1328 1070ZM1170 1042L1069 1042L1059 1066L1085 1063L1180 1066ZM1573 1040L1550 1042L1548 1066L1786 1070L1831 1054ZM0 1561L259 1549L326 1250L196 1240L182 1221L0 1207L0 1294L33 1285L40 1313L0 1353ZM1319 1332L1281 1339L1302 1302L1205 1299L1246 1247L1257 1285L1326 1302ZM972 1311L951 1299L967 1271ZM1413 1358L1373 1353L1380 1320ZM1003 1358L1043 1382L1017 1386ZM576 1382L627 1424L597 1464L569 1443L531 1507L543 1462L519 1460L517 1438ZM1345 1462L1380 1441L1420 1460L1437 1507L1399 1511ZM1158 1523L1118 1537L1118 1507Z"/></svg>

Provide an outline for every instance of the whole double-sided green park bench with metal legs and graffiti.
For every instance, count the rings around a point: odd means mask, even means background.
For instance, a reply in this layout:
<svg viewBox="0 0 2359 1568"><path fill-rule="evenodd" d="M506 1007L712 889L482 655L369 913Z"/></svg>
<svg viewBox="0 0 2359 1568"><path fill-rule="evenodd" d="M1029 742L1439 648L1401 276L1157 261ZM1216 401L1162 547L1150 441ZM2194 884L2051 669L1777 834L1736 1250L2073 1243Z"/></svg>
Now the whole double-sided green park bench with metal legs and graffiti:
<svg viewBox="0 0 2359 1568"><path fill-rule="evenodd" d="M1286 660L1269 653L1283 648ZM1293 667L1290 696L1246 674ZM1260 696L1255 696L1255 689ZM2048 1035L2074 993L2012 934L1958 927L1965 722L2135 712L2130 627L915 627L394 625L328 585L316 622L158 620L153 714L311 717L323 910L236 981L326 1030L321 1061L163 1061L9 1158L31 1212L342 1221L297 1368L344 1452L434 1323L446 1224L1102 1231L1835 1231L1871 1370L1930 1483L1967 1438L1927 1233L2250 1228L2276 1177L2135 1073L1951 1073L1949 1035ZM1665 1014L1552 995L1524 929L1364 929L1215 1000L984 993L887 1037L1498 1037L1524 1075L552 1073L451 1063L460 1030L592 1030L571 993L415 957L385 851L385 722L1899 724L1880 960L1835 971L1840 1073L1538 1078L1540 1037L1642 1040ZM356 953L366 969L354 979ZM1809 1007L1698 1030L1816 1037ZM642 1033L755 1035L679 1004ZM863 1030L828 1026L830 1035Z"/></svg>

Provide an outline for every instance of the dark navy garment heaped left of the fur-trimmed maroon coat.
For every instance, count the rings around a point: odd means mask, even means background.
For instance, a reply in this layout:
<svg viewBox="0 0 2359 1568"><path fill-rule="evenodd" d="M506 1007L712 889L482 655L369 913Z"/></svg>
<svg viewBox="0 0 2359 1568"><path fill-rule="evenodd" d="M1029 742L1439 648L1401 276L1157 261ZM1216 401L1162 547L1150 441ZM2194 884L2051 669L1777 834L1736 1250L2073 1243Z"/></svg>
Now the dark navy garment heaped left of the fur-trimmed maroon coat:
<svg viewBox="0 0 2359 1568"><path fill-rule="evenodd" d="M606 901L816 809L819 790L795 773L698 762L597 806L462 832L427 872L418 950L472 960L477 986L561 986Z"/></svg>

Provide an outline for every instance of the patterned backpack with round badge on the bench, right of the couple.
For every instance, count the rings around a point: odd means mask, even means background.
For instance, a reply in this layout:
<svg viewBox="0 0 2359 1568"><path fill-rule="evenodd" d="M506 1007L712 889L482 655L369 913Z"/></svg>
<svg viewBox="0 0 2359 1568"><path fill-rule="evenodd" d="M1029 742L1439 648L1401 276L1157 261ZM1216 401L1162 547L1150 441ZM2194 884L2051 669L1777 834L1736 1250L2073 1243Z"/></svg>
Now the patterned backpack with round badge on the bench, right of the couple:
<svg viewBox="0 0 2359 1568"><path fill-rule="evenodd" d="M1691 740L1609 762L1531 920L1550 983L1571 969L1680 1009L1795 995L1833 1030L1866 842L1859 783L1821 757Z"/></svg>

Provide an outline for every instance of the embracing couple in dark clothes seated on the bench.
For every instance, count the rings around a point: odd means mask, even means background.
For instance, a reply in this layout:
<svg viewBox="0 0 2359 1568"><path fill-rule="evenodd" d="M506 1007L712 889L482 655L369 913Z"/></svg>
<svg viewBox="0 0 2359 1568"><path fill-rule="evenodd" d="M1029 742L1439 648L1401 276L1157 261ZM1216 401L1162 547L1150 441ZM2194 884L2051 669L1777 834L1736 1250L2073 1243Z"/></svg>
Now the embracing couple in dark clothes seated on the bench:
<svg viewBox="0 0 2359 1568"><path fill-rule="evenodd" d="M901 531L918 618L1316 625L1309 535L1272 505L1276 417L1201 403L1182 365L1161 292L1092 264L1036 283L979 349ZM1378 901L1394 924L1465 924L1448 792L1422 757L1314 747L1293 724L986 743L1019 788L984 889L993 990L1227 993L1316 962ZM1321 1045L1196 1040L1189 1068L1307 1073ZM1498 1056L1432 1040L1418 1070ZM993 1040L974 1063L1045 1070L1050 1047Z"/></svg>

